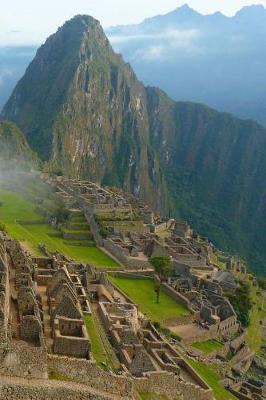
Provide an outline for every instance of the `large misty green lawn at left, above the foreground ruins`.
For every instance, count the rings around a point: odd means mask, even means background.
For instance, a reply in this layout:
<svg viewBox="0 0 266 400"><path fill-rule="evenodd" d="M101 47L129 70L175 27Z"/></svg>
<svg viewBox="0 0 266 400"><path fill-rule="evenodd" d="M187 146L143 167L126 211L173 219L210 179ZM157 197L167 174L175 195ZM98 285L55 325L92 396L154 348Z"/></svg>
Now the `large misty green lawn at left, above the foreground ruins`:
<svg viewBox="0 0 266 400"><path fill-rule="evenodd" d="M58 251L76 261L93 264L98 268L116 268L118 264L95 246L74 246L73 241L60 237L60 232L44 221L35 212L34 204L22 195L0 190L0 221L14 239L24 243L33 255L41 255L38 244L43 243L50 251ZM18 221L38 221L36 224Z"/></svg>

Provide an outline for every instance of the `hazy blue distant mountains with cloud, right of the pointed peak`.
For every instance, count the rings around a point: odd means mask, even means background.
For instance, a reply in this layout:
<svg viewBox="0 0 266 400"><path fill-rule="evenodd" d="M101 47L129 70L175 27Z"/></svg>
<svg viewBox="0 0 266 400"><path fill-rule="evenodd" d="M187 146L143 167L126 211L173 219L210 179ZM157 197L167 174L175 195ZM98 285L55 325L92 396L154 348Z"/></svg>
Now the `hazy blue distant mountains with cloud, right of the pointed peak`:
<svg viewBox="0 0 266 400"><path fill-rule="evenodd" d="M106 30L146 85L178 101L204 103L266 125L266 9L233 17L201 15L189 6L138 25Z"/></svg>

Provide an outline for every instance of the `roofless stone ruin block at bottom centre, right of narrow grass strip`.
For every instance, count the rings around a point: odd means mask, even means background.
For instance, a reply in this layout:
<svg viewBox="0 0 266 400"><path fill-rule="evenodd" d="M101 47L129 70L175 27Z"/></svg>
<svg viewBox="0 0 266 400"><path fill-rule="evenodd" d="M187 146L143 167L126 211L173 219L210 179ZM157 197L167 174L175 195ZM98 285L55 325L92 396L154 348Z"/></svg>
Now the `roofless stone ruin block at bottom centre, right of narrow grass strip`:
<svg viewBox="0 0 266 400"><path fill-rule="evenodd" d="M189 368L131 303L100 302L100 312L111 341L126 371L134 376L168 371L182 381ZM193 380L192 377L190 377Z"/></svg>

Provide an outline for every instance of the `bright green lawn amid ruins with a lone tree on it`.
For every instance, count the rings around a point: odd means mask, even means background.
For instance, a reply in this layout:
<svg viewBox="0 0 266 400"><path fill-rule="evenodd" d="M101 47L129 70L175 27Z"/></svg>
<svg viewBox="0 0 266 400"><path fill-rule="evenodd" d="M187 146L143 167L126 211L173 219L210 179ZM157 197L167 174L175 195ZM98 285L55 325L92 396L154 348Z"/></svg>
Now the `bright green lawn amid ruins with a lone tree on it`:
<svg viewBox="0 0 266 400"><path fill-rule="evenodd" d="M160 295L160 303L156 303L155 283L152 279L131 279L110 276L124 293L126 293L140 310L152 321L165 323L165 321L181 316L189 315L189 310L176 303L163 290Z"/></svg>

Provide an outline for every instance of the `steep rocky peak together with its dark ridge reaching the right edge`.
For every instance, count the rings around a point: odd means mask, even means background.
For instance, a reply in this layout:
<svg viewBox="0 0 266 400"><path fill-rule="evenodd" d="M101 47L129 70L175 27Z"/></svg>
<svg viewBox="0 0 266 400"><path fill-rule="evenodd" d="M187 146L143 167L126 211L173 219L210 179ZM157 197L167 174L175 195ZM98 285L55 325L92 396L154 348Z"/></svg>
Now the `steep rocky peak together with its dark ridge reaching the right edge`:
<svg viewBox="0 0 266 400"><path fill-rule="evenodd" d="M47 40L3 115L57 170L130 190L266 260L266 130L145 88L93 18L77 16Z"/></svg>

